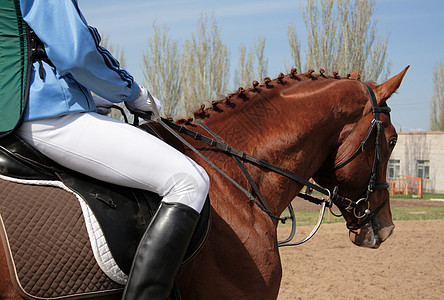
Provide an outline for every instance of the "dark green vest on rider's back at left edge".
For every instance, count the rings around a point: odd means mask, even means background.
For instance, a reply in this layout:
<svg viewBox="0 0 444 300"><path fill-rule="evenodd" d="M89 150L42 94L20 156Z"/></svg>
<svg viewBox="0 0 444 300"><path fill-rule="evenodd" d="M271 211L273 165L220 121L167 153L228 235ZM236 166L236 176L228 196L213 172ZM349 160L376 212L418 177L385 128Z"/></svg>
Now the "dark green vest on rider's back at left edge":
<svg viewBox="0 0 444 300"><path fill-rule="evenodd" d="M21 124L29 96L32 50L18 0L0 0L0 137Z"/></svg>

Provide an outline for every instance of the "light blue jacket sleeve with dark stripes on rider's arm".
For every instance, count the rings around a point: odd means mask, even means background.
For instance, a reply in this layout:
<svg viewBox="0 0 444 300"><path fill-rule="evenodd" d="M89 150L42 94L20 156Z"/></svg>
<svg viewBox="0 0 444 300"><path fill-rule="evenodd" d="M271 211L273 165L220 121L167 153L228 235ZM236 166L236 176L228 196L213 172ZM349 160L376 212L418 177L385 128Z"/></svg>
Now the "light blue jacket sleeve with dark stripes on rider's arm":
<svg viewBox="0 0 444 300"><path fill-rule="evenodd" d="M98 31L88 26L77 0L20 0L24 20L45 46L61 76L113 102L134 101L139 86L102 46Z"/></svg>

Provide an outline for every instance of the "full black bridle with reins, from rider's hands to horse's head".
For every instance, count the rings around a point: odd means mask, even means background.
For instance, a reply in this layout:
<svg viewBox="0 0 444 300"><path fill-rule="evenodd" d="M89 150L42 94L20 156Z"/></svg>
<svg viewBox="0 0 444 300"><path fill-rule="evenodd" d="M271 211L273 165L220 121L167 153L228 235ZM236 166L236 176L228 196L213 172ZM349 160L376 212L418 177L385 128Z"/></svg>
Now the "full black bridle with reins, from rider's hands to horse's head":
<svg viewBox="0 0 444 300"><path fill-rule="evenodd" d="M214 131L212 131L210 128L208 128L204 123L196 120L195 123L199 124L203 129L205 129L210 135L213 136L213 138L209 138L205 135L202 135L199 132L190 130L182 125L176 124L174 122L172 122L169 119L164 119L160 117L160 114L158 113L157 109L155 106L153 106L153 112L154 115L157 116L155 119L157 120L158 123L160 123L167 131L169 131L173 136L175 136L177 139L179 139L183 144L185 144L188 148L190 148L191 150L193 150L198 156L200 156L203 160L205 160L209 165L211 165L213 168L215 168L219 173L221 173L224 177L226 177L230 182L232 182L238 189L240 189L242 192L244 192L247 197L253 201L262 211L264 211L266 214L268 214L270 216L270 218L273 220L273 222L275 221L281 221L283 223L285 223L285 221L287 219L291 219L293 221L293 228L292 228L292 234L294 235L294 226L295 226L295 218L294 218L294 213L293 213L293 209L291 207L291 204L289 206L289 210L290 210L290 217L279 217L276 216L272 213L272 211L269 209L267 202L265 201L265 199L262 197L258 187L256 186L256 184L254 183L253 179L251 178L251 175L248 173L248 171L246 170L245 166L243 165L243 162L249 162L252 163L258 167L264 168L264 169L268 169L270 171L273 171L275 173L278 173L284 177L287 177L295 182L298 182L300 184L303 184L305 186L307 186L310 189L316 190L319 193L327 196L328 200L325 199L318 199L309 195L305 195L302 193L299 193L298 196L309 200L313 203L316 204L322 204L323 205L323 209L325 209L325 207L329 207L330 210L333 206L333 204L336 204L338 206L342 205L345 206L347 211L353 211L355 217L359 220L362 220L359 224L356 225L350 225L350 224L346 224L347 228L349 230L357 230L361 227L363 227L364 225L368 224L375 216L376 214L387 204L388 200L389 200L389 196L387 196L387 198L385 199L385 201L375 210L371 211L370 210L370 198L371 195L376 191L376 190L382 190L382 189L387 189L389 187L388 183L384 182L384 183L377 183L378 181L378 171L379 171L379 165L381 164L381 151L382 151L382 135L383 135L383 128L382 128L382 122L380 120L380 114L381 113L389 113L391 110L389 107L385 106L385 107L378 107L377 101L376 101L376 96L375 93L373 92L372 88L362 82L367 90L368 93L370 95L370 100L371 100L371 104L372 104L372 113L373 113L373 120L371 122L370 128L364 138L364 140L360 143L360 146L358 147L358 149L356 149L356 151L350 156L350 158L348 158L346 161L344 161L343 163L333 167L332 169L328 170L327 172L334 172L337 171L341 168L343 168L344 166L346 166L347 164L349 164L351 161L353 161L361 152L363 152L365 144L367 143L367 141L370 139L370 136L372 135L373 131L376 131L376 141L375 141L375 157L373 160L373 167L372 167L372 173L370 175L370 180L367 186L367 191L363 193L363 196L361 198L359 198L358 200L354 201L351 200L349 198L346 197L342 197L340 195L338 195L338 186L336 186L333 191L331 192L328 189L325 189L319 185L313 184L291 172L288 172L284 169L281 169L275 165L272 165L266 161L263 161L261 159L258 159L254 156L251 156L245 152L242 152L240 150L234 149L232 147L230 147L225 141L223 141ZM154 99L152 98L151 94L148 92L148 96L151 98L151 102L154 103ZM132 111L133 112L133 111ZM144 115L146 116L146 114L142 113L142 112L133 112L136 116L135 119L137 119L137 117L142 117L144 119L146 119L146 117L144 117ZM195 140L201 141L207 145L210 145L216 149L218 149L220 152L223 152L231 157L233 157L236 161L236 163L239 165L239 167L241 168L242 172L244 173L244 175L246 176L246 178L248 179L248 182L253 190L253 194L251 194L250 192L248 192L245 188L243 188L242 186L240 186L237 182L235 182L233 179L231 179L227 174L225 174L221 169L219 169L217 166L214 165L213 162L211 162L210 160L208 160L205 156L203 156L202 153L200 153L200 151L198 151L196 148L194 148L194 146L192 146L190 143L188 143L184 138L182 138L178 133L182 133L185 134L187 136L192 137ZM257 199L256 199L257 198ZM367 208L364 210L364 213L359 215L357 210L361 205L365 205L367 204ZM322 211L322 209L321 209ZM333 213L333 212L332 212ZM334 214L334 213L333 213ZM335 214L334 214L335 215ZM321 222L322 222L322 216L323 216L323 212L320 214L320 218L318 219L318 224L317 224L317 228L319 228ZM335 215L338 216L338 215ZM339 215L340 216L340 215ZM310 234L309 237L307 237L306 239L304 239L303 241L299 242L299 243L294 243L294 244L289 244L288 242L292 239L288 238L286 239L282 244L279 244L279 246L291 246L291 245L298 245L302 242L307 241L309 238L311 238L311 236L314 235L314 233L316 233L317 228L315 228L312 233Z"/></svg>

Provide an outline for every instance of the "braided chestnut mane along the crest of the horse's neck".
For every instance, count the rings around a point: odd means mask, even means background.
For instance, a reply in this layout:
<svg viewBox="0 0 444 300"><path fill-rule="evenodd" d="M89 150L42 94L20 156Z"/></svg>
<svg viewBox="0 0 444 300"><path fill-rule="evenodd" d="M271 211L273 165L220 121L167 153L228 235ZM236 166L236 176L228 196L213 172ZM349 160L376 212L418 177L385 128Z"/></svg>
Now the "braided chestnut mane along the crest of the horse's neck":
<svg viewBox="0 0 444 300"><path fill-rule="evenodd" d="M226 107L235 107L236 103L244 103L249 100L252 100L258 94L261 94L265 91L270 91L274 88L283 88L286 86L293 86L294 84L301 84L306 81L314 81L314 80L326 80L326 79L335 79L335 80L361 80L361 75L358 71L354 71L346 75L346 77L339 76L338 72L333 72L333 75L326 75L324 69L320 69L319 73L314 73L314 70L308 70L305 73L298 74L297 69L291 69L291 72L287 75L280 73L278 77L275 79L270 79L270 77L264 78L264 82L260 84L258 81L254 80L252 86L248 89L244 89L240 87L236 92L228 94L225 98L215 100L211 102L211 106L205 107L205 104L202 104L200 108L194 112L195 119L205 119L209 118L214 113L222 113L224 112L224 108ZM193 118L188 119L179 119L177 123L184 123L190 125L193 121Z"/></svg>

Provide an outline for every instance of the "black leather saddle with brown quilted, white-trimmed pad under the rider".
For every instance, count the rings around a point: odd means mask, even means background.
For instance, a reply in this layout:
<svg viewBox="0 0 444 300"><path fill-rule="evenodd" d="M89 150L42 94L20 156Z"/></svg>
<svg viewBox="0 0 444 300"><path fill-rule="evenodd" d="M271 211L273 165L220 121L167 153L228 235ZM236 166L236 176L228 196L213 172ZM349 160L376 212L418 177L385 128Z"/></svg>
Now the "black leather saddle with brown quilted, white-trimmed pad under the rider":
<svg viewBox="0 0 444 300"><path fill-rule="evenodd" d="M0 139L0 235L22 297L121 292L160 201L68 170L14 134ZM183 263L202 247L210 209L207 199Z"/></svg>

